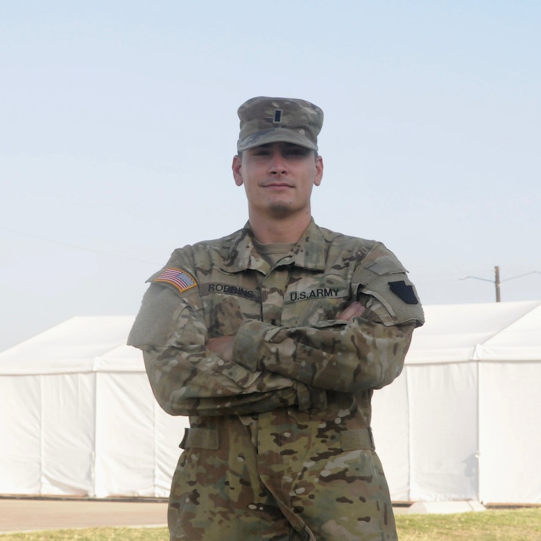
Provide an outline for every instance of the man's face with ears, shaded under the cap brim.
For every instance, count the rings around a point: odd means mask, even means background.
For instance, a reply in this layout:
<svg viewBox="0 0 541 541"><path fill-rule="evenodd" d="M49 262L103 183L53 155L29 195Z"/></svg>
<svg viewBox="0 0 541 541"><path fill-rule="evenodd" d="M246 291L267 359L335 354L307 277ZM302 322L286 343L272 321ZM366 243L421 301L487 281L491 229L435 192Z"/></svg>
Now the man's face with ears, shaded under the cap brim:
<svg viewBox="0 0 541 541"><path fill-rule="evenodd" d="M237 186L244 184L250 214L283 218L310 212L314 185L323 177L323 160L314 151L291 143L249 148L233 158Z"/></svg>

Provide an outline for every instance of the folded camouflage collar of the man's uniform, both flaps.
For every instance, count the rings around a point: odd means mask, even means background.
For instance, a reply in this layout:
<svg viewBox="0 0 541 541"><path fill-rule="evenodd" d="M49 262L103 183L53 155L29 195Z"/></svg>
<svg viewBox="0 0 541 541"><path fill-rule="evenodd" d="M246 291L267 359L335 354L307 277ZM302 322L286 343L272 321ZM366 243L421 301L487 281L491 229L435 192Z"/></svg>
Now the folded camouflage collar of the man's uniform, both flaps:
<svg viewBox="0 0 541 541"><path fill-rule="evenodd" d="M231 243L224 247L223 270L230 273L246 271L248 268L267 273L267 262L257 253L252 242L250 223L230 237ZM293 247L291 257L284 259L282 264L293 264L296 267L314 271L325 268L325 241L319 227L311 218L310 223L299 241Z"/></svg>

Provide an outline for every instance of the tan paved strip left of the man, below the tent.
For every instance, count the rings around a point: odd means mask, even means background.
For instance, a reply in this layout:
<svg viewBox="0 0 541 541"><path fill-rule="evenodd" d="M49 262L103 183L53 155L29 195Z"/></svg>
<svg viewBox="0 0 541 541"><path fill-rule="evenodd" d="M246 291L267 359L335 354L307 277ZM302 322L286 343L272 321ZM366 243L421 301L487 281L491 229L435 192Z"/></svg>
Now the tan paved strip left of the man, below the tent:
<svg viewBox="0 0 541 541"><path fill-rule="evenodd" d="M0 498L0 534L15 531L166 526L164 501Z"/></svg>

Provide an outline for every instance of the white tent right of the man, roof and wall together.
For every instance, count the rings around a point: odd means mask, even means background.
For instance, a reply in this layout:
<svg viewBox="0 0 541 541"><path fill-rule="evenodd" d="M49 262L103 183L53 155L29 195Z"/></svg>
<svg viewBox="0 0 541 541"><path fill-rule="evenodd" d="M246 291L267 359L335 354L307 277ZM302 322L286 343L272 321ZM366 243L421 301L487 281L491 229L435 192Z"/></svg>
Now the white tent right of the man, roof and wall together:
<svg viewBox="0 0 541 541"><path fill-rule="evenodd" d="M374 396L393 500L541 503L541 301L425 307Z"/></svg>

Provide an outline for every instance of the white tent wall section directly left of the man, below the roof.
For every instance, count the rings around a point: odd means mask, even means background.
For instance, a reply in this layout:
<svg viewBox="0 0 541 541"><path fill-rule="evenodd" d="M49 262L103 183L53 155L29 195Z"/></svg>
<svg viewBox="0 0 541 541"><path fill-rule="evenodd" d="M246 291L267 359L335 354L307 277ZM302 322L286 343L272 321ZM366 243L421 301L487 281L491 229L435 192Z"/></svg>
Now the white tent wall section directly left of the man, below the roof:
<svg viewBox="0 0 541 541"><path fill-rule="evenodd" d="M169 495L186 425L160 409L145 374L98 374L94 495Z"/></svg>

